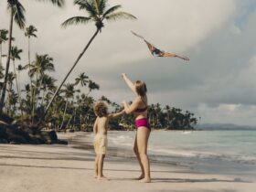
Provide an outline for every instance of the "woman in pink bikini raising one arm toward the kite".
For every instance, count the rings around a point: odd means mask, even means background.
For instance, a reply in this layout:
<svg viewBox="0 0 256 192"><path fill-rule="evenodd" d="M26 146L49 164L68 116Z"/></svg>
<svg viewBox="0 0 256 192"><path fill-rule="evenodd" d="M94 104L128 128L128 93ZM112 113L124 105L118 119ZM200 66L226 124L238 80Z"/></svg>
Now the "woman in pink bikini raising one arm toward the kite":
<svg viewBox="0 0 256 192"><path fill-rule="evenodd" d="M151 132L150 125L147 121L147 97L146 97L146 85L143 81L137 80L133 83L129 80L125 73L122 73L123 80L128 87L135 93L136 98L131 105L128 105L126 101L123 101L124 111L127 114L134 113L135 126L137 128L133 151L139 161L142 169L142 175L139 176L140 182L150 183L150 165L147 155L147 143Z"/></svg>

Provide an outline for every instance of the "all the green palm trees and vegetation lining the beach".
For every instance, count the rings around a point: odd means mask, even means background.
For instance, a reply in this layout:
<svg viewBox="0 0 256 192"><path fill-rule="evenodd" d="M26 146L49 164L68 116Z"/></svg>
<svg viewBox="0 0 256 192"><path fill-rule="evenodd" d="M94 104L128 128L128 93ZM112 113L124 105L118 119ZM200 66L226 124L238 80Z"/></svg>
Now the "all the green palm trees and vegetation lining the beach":
<svg viewBox="0 0 256 192"><path fill-rule="evenodd" d="M50 2L58 6L64 5L63 0L51 0ZM107 2L107 0L74 1L74 5L78 5L80 9L85 10L88 16L73 16L63 22L62 27L93 22L96 30L75 60L65 79L57 87L57 80L52 74L52 72L58 70L55 69L54 59L47 53L30 57L30 38L37 37L37 28L31 25L25 27L25 7L18 0L7 1L7 8L11 17L10 26L9 30L0 30L0 80L3 80L0 83L0 120L6 120L7 123L15 120L16 124L31 128L40 123L40 129L91 131L95 120L93 112L95 100L90 96L90 93L91 91L99 90L100 85L91 80L85 72L80 73L75 80L67 83L65 81L91 45L94 37L101 32L102 27L104 27L103 21L118 20L120 18L135 19L135 16L119 11L121 5L108 8ZM13 46L15 44L15 38L13 37L14 23L27 37L28 46L28 63L22 63L17 66L16 61L21 59L20 53L23 50ZM7 37L7 35L9 36ZM6 42L8 45L5 50L2 46ZM6 52L6 54L2 52ZM7 59L5 67L2 63L2 56ZM11 61L13 63L13 71L10 71ZM27 76L27 83L23 86L20 85L21 75ZM122 108L105 96L102 96L101 100L109 104L111 112L120 111ZM191 129L197 124L197 118L194 117L193 113L182 113L180 109L171 108L168 105L162 109L159 103L152 104L149 107L148 117L152 127L155 129ZM133 129L133 121L132 115L124 115L119 120L112 120L111 128Z"/></svg>

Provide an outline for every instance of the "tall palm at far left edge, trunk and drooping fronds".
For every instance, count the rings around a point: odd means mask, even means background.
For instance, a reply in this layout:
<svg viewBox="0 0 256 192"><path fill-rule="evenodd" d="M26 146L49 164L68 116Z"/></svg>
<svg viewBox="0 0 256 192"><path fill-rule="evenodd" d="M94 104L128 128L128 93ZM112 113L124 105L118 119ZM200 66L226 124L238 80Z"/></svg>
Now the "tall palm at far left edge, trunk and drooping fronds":
<svg viewBox="0 0 256 192"><path fill-rule="evenodd" d="M11 59L11 48L12 48L12 35L13 35L13 22L16 21L16 24L20 28L24 28L25 26L25 8L23 5L19 3L18 0L7 0L7 8L10 11L10 27L9 27L9 37L8 37L8 53L7 53L7 61L5 66L5 81L4 87L1 95L0 100L0 113L3 112L4 102L5 102L5 91L6 91L6 84L7 84L7 74L9 72L10 66L10 59Z"/></svg>

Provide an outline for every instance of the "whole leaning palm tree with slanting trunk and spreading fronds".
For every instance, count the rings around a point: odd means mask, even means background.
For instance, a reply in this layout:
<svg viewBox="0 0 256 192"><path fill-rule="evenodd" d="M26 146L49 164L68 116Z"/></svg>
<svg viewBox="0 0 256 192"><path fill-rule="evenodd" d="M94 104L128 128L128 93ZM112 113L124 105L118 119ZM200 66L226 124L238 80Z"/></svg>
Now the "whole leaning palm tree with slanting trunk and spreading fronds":
<svg viewBox="0 0 256 192"><path fill-rule="evenodd" d="M91 37L88 44L83 48L79 57L75 60L71 69L69 69L68 74L65 76L64 80L59 85L57 91L55 91L51 101L49 101L46 111L41 117L41 120L44 118L46 113L48 112L49 106L51 105L52 101L54 101L55 97L59 93L60 88L62 87L63 83L68 79L69 74L71 71L76 67L78 62L80 61L81 57L91 45L92 40L101 32L101 28L104 27L103 21L114 21L117 19L136 19L135 16L123 12L118 11L122 6L121 5L114 5L108 8L108 0L74 0L74 5L78 5L81 10L85 10L89 16L73 16L67 19L65 22L62 23L62 27L68 27L69 25L78 25L78 24L88 24L93 22L96 26L96 31ZM39 123L41 122L39 121Z"/></svg>

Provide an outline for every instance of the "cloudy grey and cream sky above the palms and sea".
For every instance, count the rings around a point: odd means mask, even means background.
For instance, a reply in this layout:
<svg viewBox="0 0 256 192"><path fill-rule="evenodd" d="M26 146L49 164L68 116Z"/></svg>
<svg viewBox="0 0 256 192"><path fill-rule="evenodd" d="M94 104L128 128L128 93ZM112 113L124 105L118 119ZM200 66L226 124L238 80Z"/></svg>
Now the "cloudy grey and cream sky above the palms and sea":
<svg viewBox="0 0 256 192"><path fill-rule="evenodd" d="M60 24L71 16L87 16L67 1L58 8L36 0L20 0L27 26L37 27L31 51L54 59L52 75L63 80L90 40L95 26ZM109 0L138 19L105 22L91 47L69 76L73 82L85 72L100 84L94 91L120 103L134 95L121 78L144 80L149 103L159 102L194 112L199 123L235 123L256 126L256 2L255 0ZM6 1L0 0L0 28L8 28ZM142 35L155 47L186 55L190 61L153 57ZM15 45L23 48L20 64L27 64L27 38L14 27ZM5 53L7 45L4 45ZM32 57L34 58L34 57ZM5 63L5 60L3 60ZM21 81L27 82L24 73Z"/></svg>

